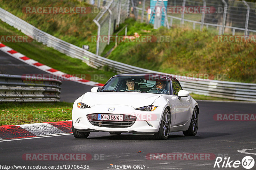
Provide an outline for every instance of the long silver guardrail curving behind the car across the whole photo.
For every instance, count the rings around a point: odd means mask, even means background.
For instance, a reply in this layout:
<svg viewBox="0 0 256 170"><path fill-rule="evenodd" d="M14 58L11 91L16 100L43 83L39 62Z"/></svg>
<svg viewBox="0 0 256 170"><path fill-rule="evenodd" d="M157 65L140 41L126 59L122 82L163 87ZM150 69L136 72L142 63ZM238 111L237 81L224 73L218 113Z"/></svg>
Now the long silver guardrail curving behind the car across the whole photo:
<svg viewBox="0 0 256 170"><path fill-rule="evenodd" d="M52 47L61 53L65 53L66 55L73 58L84 60L91 67L100 68L103 66L108 66L116 70L117 73L151 72L165 74L140 67L134 67L93 54L78 46L65 42L37 29L33 25L28 24L27 22L14 16L10 12L5 11L2 8L0 8L0 19L7 24L19 29L24 34L31 36L33 39L40 37L40 39L37 39L39 42L43 42L47 46ZM172 76L178 77L176 75ZM178 80L180 80L183 89L188 90L190 93L234 100L256 101L256 84L205 79L191 80L190 78L182 78L182 80L178 78Z"/></svg>

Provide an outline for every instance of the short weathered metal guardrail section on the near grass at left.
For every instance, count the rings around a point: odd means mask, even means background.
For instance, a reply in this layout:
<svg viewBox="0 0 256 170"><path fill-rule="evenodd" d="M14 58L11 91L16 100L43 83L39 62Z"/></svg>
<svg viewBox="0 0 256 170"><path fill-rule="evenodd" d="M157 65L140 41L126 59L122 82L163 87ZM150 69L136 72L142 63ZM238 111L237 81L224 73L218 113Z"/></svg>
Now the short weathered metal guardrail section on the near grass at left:
<svg viewBox="0 0 256 170"><path fill-rule="evenodd" d="M0 74L0 102L59 102L61 81Z"/></svg>

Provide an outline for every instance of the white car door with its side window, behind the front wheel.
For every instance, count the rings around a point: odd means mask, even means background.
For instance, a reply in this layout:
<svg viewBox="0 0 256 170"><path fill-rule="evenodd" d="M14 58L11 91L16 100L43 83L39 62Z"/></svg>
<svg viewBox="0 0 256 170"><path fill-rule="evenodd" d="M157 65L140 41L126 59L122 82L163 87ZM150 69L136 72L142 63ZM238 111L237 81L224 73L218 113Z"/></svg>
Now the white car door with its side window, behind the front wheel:
<svg viewBox="0 0 256 170"><path fill-rule="evenodd" d="M191 115L190 96L178 98L178 92L182 90L180 82L173 79L172 88L175 102L175 123L174 126L185 124Z"/></svg>

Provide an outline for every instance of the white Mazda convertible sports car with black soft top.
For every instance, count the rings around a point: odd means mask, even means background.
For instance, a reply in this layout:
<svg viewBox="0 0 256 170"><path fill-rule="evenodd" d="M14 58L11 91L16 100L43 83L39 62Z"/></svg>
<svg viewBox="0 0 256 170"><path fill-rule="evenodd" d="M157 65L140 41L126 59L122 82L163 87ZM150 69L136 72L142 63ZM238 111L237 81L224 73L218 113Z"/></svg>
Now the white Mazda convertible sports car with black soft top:
<svg viewBox="0 0 256 170"><path fill-rule="evenodd" d="M176 131L195 136L198 113L198 103L174 77L125 73L113 76L102 89L93 87L76 99L72 131L76 138L99 131L154 135L155 139L167 139Z"/></svg>

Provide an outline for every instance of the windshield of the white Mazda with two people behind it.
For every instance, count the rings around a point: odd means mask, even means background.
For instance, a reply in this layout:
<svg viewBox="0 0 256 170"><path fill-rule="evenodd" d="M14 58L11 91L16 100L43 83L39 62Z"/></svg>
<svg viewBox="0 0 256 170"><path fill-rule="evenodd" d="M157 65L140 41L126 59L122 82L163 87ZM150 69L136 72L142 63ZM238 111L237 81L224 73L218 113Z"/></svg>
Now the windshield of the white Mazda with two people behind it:
<svg viewBox="0 0 256 170"><path fill-rule="evenodd" d="M116 76L101 89L101 91L122 91L170 94L169 81L155 75L146 76Z"/></svg>

